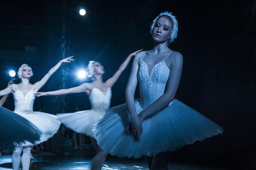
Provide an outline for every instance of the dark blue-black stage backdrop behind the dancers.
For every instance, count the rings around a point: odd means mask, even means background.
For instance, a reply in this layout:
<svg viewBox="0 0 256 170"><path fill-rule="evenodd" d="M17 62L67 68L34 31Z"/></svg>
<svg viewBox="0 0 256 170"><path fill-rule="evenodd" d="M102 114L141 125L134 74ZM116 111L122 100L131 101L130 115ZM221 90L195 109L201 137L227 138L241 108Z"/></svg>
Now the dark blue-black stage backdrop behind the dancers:
<svg viewBox="0 0 256 170"><path fill-rule="evenodd" d="M81 7L85 16L79 15ZM0 1L0 89L11 79L10 69L29 64L34 83L71 55L76 61L63 65L40 91L88 82L75 73L90 60L105 66L108 79L128 54L151 49L150 25L163 11L172 11L179 22L171 45L184 57L176 98L224 128L221 135L175 151L172 160L255 169L256 0ZM130 68L131 64L113 86L111 106L125 102ZM9 96L4 106L13 110L13 105ZM76 105L90 109L87 96L76 94L37 98L35 110L73 112ZM61 127L46 150L63 154L63 133Z"/></svg>

